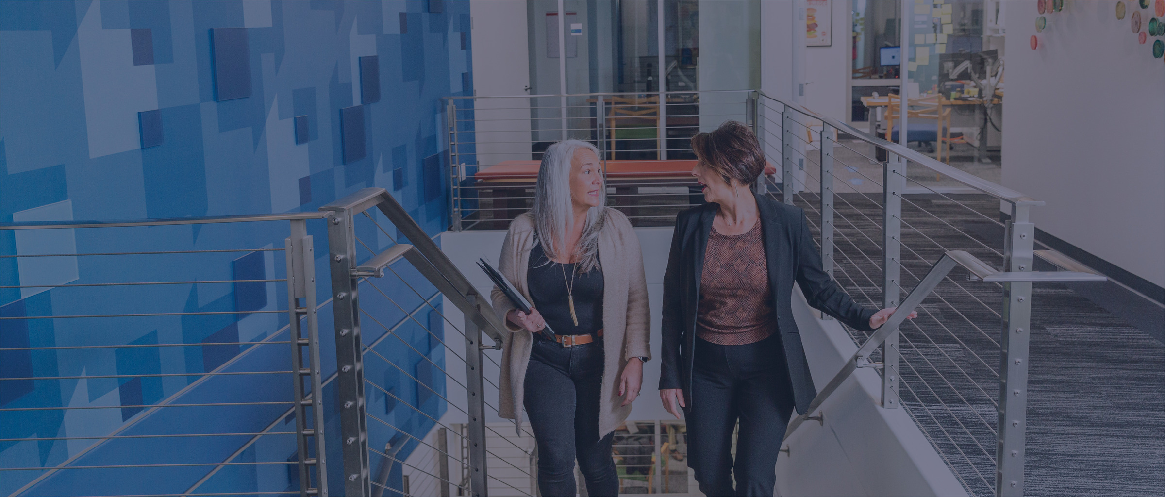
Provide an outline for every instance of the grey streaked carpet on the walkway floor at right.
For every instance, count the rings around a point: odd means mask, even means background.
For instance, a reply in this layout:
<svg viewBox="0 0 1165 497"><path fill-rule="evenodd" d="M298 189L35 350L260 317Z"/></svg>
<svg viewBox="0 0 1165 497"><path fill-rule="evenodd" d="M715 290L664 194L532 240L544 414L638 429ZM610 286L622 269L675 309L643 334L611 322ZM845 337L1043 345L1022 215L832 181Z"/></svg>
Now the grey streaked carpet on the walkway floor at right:
<svg viewBox="0 0 1165 497"><path fill-rule="evenodd" d="M867 197L868 196L868 197ZM797 205L814 227L818 197ZM839 194L838 270L846 290L867 305L881 301L881 198ZM944 250L1002 265L998 201L986 196L906 196L902 281L917 284ZM917 228L917 230L915 229ZM1051 269L1040 268L1037 269ZM973 495L994 495L998 397L1000 286L966 282L961 269L903 327L903 405ZM1080 285L1080 284L1076 284ZM1106 293L1123 291L1115 284ZM1088 292L1083 292L1088 293ZM1095 292L1093 292L1095 293ZM1125 299L1139 299L1131 292ZM1142 303L1138 310L1144 310ZM1158 315L1142 319L1160 322ZM1165 347L1152 331L1061 284L1037 284L1032 296L1026 494L1165 495ZM850 332L855 340L864 333ZM875 358L877 360L877 358Z"/></svg>

